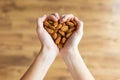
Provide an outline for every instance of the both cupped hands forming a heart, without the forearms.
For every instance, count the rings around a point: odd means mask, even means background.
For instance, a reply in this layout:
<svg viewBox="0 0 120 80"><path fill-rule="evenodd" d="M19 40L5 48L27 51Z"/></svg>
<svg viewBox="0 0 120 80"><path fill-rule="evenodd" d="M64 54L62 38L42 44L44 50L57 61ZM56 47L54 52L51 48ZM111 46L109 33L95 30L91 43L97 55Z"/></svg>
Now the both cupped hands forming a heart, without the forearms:
<svg viewBox="0 0 120 80"><path fill-rule="evenodd" d="M60 20L61 23L65 22L67 19L74 19L77 22L78 25L76 31L67 40L63 48L59 49L57 45L54 43L52 37L45 30L43 26L43 22L45 19L51 19L53 21ZM53 50L55 53L60 52L61 54L63 54L65 51L71 48L78 47L78 44L83 35L83 22L78 20L78 18L73 16L72 14L63 15L61 17L59 16L58 13L53 13L49 16L44 15L43 17L38 19L37 33L43 47L47 47L48 49Z"/></svg>

